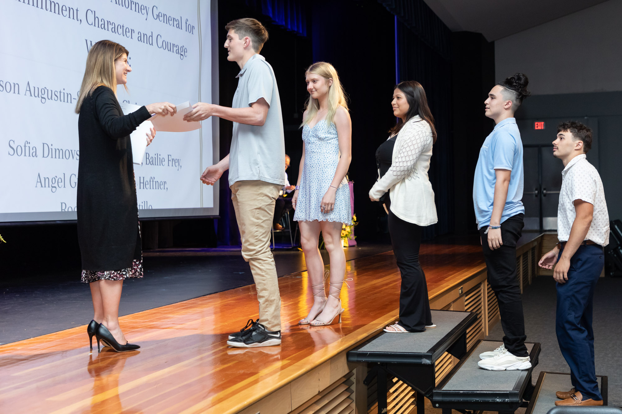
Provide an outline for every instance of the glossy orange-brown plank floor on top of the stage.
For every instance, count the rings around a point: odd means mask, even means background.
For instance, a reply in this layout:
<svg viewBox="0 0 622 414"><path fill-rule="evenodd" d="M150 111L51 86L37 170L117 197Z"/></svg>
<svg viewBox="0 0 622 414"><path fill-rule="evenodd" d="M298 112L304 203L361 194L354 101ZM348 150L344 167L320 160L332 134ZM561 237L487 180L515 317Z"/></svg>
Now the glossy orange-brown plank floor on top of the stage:
<svg viewBox="0 0 622 414"><path fill-rule="evenodd" d="M427 244L430 298L485 268L480 246ZM235 413L378 333L397 317L392 252L347 263L341 324L301 327L312 304L306 272L279 278L282 346L230 348L257 318L254 286L121 318L137 352L89 351L84 326L0 346L0 413Z"/></svg>

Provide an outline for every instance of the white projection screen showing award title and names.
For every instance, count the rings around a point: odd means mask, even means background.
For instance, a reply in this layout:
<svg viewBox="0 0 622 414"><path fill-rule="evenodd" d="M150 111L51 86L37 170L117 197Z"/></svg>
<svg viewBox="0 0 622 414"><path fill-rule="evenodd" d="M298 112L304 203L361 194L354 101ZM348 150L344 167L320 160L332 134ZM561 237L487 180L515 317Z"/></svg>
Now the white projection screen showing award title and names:
<svg viewBox="0 0 622 414"><path fill-rule="evenodd" d="M1 2L0 222L76 218L74 109L86 55L98 40L129 50L129 94L119 86L119 101L217 103L211 3ZM199 181L218 154L217 124L208 119L196 131L157 133L142 165L134 165L141 218L218 214L218 191Z"/></svg>

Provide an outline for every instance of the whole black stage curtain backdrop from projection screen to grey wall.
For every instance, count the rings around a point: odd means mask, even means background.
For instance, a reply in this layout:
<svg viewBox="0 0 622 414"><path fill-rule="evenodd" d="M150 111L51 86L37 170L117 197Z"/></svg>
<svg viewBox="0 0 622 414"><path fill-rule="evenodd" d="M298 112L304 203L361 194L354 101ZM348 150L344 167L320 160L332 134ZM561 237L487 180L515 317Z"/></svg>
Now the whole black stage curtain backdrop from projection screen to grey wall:
<svg viewBox="0 0 622 414"><path fill-rule="evenodd" d="M356 234L360 241L388 241L386 216L379 203L371 203L369 188L376 179L374 152L386 139L394 122L390 112L392 85L398 80L417 80L425 88L430 109L435 117L439 138L434 146L430 165L430 181L435 192L439 223L424 231L425 239L453 232L453 145L450 122L452 118L451 33L421 0L317 0L309 13L296 9L300 1L221 0L218 4L220 44L225 42L226 22L240 17L254 17L264 23L270 39L261 51L274 68L285 127L285 152L292 159L287 171L290 182L297 180L302 140L300 116L307 98L304 69L318 60L331 62L337 68L345 90L350 95L350 114L353 123L353 159L349 176L355 181L355 213L360 225ZM274 5L279 7L273 7ZM271 6L272 9L267 8ZM280 10L280 11L279 11ZM265 13L265 14L264 14ZM269 13L267 16L266 14ZM301 24L288 27L279 16L300 13ZM290 19L292 21L292 19ZM352 39L361 28L373 28L365 38L366 50L355 47ZM342 41L347 40L347 41ZM394 45L397 42L397 67ZM237 85L239 68L226 60L221 48L220 102L230 105ZM220 120L221 157L228 153L231 122ZM218 244L238 244L239 236L230 190L223 176L220 185L220 216Z"/></svg>

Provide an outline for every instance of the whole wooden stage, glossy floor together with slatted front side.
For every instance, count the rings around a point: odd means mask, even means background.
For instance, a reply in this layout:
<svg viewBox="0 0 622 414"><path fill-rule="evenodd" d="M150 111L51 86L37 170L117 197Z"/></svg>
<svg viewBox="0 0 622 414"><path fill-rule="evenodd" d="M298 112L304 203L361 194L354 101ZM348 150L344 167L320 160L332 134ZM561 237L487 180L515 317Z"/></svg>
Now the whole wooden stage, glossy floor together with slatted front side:
<svg viewBox="0 0 622 414"><path fill-rule="evenodd" d="M521 290L537 275L541 240L533 234L518 248ZM468 347L488 334L499 310L481 247L424 244L420 262L433 309L478 312ZM346 273L343 322L320 327L297 325L313 303L307 272L279 278L281 346L226 345L258 317L254 285L123 316L135 352L91 353L85 326L0 346L0 412L367 413L366 366L346 362L346 352L396 320L399 270L386 252L350 260ZM455 363L443 356L437 380ZM391 390L395 412L410 412L407 388Z"/></svg>

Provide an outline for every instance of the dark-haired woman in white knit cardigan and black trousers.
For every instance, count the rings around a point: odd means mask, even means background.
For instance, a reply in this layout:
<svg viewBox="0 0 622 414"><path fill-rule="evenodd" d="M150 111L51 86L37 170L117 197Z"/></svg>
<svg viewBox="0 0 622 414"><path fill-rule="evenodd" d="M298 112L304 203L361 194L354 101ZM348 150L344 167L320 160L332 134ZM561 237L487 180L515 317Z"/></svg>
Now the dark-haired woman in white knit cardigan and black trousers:
<svg viewBox="0 0 622 414"><path fill-rule="evenodd" d="M382 201L389 214L393 252L402 276L399 321L384 331L422 332L435 327L419 264L419 246L422 229L437 223L434 191L427 174L436 130L419 82L399 83L391 105L399 121L376 151L379 178L369 190L369 198Z"/></svg>

